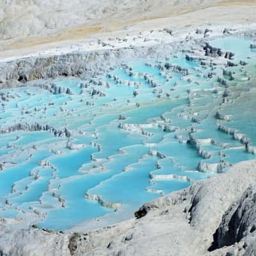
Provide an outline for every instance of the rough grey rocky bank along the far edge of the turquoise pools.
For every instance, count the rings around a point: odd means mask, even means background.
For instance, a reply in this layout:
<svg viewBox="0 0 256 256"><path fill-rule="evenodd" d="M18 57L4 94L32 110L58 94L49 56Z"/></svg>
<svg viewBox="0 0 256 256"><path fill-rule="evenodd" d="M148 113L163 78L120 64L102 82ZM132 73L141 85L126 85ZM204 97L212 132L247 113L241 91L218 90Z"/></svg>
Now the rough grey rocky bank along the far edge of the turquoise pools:
<svg viewBox="0 0 256 256"><path fill-rule="evenodd" d="M24 58L0 63L0 88L19 86L47 77L92 77L127 58L156 58L178 51L184 44L161 44L151 47L130 47L105 51L73 52L60 56Z"/></svg>

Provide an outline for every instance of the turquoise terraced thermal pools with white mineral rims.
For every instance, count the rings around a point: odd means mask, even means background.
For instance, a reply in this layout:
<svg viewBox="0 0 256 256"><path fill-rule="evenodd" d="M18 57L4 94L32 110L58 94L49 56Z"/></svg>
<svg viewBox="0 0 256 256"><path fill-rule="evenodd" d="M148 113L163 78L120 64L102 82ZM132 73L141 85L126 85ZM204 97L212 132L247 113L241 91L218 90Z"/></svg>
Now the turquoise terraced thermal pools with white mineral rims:
<svg viewBox="0 0 256 256"><path fill-rule="evenodd" d="M179 53L87 80L2 89L0 216L35 216L53 230L106 214L121 221L144 202L255 159L235 135L255 145L250 42L210 42L235 53L218 65Z"/></svg>

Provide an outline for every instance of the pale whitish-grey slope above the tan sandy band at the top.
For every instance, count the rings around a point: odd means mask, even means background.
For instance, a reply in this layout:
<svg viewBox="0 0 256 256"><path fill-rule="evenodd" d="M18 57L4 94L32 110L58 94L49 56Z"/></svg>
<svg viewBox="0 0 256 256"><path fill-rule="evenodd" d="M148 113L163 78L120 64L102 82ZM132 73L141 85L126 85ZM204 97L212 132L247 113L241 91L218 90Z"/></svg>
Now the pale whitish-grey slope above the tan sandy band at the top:
<svg viewBox="0 0 256 256"><path fill-rule="evenodd" d="M60 29L136 20L203 8L220 0L0 0L0 39L47 35ZM68 17L68 19L67 19Z"/></svg>

